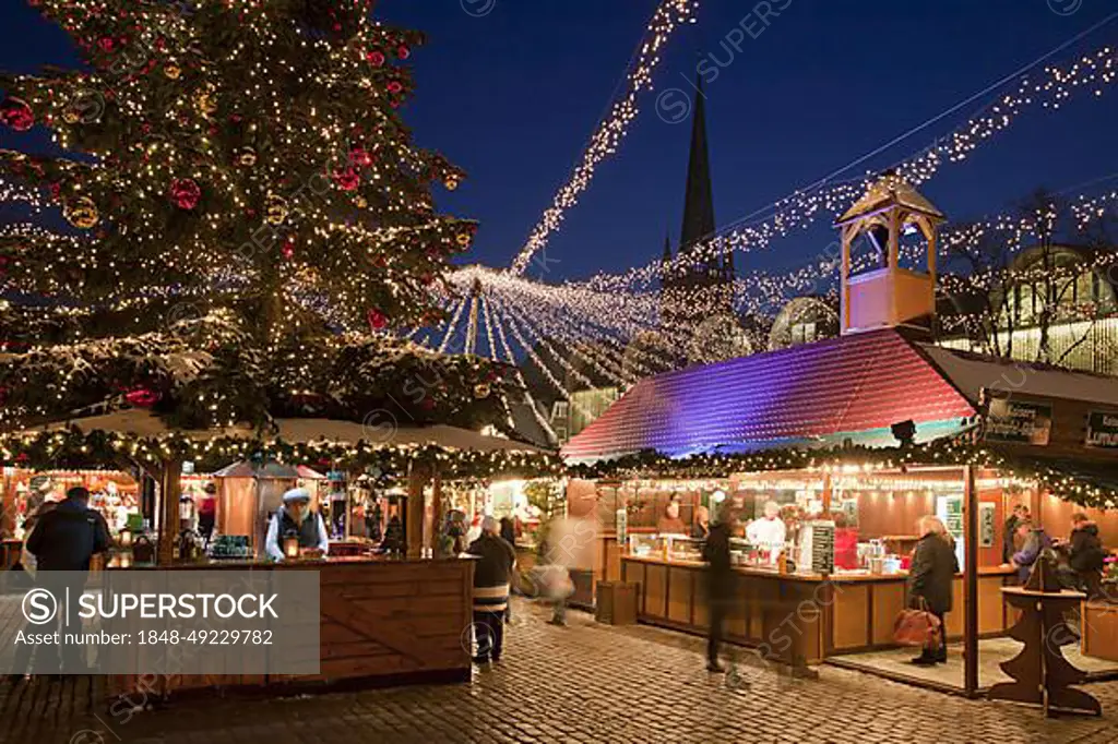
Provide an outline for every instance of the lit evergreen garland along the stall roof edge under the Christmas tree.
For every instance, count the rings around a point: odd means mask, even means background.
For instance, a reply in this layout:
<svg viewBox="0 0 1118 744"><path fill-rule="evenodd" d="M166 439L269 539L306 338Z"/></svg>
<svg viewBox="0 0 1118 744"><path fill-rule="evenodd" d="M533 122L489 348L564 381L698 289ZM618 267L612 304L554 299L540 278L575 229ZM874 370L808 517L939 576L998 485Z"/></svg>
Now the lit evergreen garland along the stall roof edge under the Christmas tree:
<svg viewBox="0 0 1118 744"><path fill-rule="evenodd" d="M495 477L558 476L562 461L542 452L457 450L436 445L312 441L235 437L192 438L183 432L138 437L77 428L0 437L0 458L7 465L31 469L63 469L89 465L189 460L200 471L216 470L238 460L315 465L350 473L364 471L402 477L411 465L437 468L447 480Z"/></svg>

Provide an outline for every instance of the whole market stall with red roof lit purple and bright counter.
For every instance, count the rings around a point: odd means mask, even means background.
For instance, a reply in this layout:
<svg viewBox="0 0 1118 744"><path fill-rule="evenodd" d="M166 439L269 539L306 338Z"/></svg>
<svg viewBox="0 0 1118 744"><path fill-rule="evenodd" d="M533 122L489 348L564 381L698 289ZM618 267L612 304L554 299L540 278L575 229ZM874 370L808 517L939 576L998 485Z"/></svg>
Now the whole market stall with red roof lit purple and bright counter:
<svg viewBox="0 0 1118 744"><path fill-rule="evenodd" d="M1064 538L1084 512L1118 545L1107 511L1118 449L1091 436L1100 411L1118 411L1118 380L1022 371L882 327L644 380L562 454L581 476L571 507L597 515L605 535L599 575L638 584L641 620L703 631L691 534L729 500L741 519L733 639L793 665L858 665L975 695L1014 652L1001 595L1016 573L1005 565L1020 547L1005 532L1013 508ZM768 505L780 536L758 541L750 523ZM960 569L946 623L961 645L930 670L906 666L891 632L925 515L946 525ZM1111 674L1100 665L1109 614L1081 610L1099 621L1083 626L1076 662Z"/></svg>

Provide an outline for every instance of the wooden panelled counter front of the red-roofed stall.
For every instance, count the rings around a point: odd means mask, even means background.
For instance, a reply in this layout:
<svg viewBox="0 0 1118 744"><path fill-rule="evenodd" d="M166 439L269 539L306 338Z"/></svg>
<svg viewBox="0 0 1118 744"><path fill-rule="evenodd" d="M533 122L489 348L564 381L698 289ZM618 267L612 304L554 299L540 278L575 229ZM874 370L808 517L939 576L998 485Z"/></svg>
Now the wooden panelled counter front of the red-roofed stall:
<svg viewBox="0 0 1118 744"><path fill-rule="evenodd" d="M708 629L704 571L704 564L694 561L622 557L622 580L641 585L638 619L688 632L705 633ZM979 636L1005 632L1008 618L1001 589L1012 574L1012 569L1001 566L979 570ZM794 666L893 647L893 623L907 607L906 572L824 576L736 566L735 575L727 640L759 647ZM961 574L955 578L953 604L947 632L955 639L963 636Z"/></svg>

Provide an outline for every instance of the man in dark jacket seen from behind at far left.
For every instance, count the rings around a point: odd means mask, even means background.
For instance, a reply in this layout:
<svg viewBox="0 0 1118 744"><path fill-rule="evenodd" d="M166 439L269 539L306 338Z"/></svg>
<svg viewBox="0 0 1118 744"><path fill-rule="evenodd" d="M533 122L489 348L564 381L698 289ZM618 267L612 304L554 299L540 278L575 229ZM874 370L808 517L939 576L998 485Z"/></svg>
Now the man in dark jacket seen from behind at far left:
<svg viewBox="0 0 1118 744"><path fill-rule="evenodd" d="M42 515L28 537L27 550L35 555L38 565L36 585L50 592L59 605L58 630L69 627L74 632L82 627L77 600L85 589L89 560L95 553L107 551L110 542L105 517L89 508L89 492L80 486L66 492L66 499ZM65 601L67 597L69 602ZM39 627L35 632L51 630ZM80 646L66 643L60 651L63 670L69 674L86 671ZM23 668L17 665L17 670Z"/></svg>

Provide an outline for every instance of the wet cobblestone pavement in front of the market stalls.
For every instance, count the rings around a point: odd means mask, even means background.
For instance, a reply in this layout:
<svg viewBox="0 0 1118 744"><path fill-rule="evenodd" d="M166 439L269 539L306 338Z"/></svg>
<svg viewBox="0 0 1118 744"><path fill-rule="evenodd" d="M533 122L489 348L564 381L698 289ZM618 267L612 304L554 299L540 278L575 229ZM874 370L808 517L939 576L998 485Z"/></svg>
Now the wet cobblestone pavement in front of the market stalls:
<svg viewBox="0 0 1118 744"><path fill-rule="evenodd" d="M1102 718L1045 719L1036 710L888 683L823 667L792 680L739 664L708 675L701 639L597 626L571 612L546 624L514 607L501 665L470 685L409 687L268 702L184 703L138 712L108 731L84 693L12 715L0 691L0 741L48 744L354 744L361 742L1115 742L1118 683L1095 684ZM26 686L23 688L26 690ZM26 694L26 693L25 693ZM44 696L46 697L46 696ZM54 698L58 699L54 699ZM79 713L79 710L82 710ZM94 708L96 710L96 708ZM29 719L30 718L30 719Z"/></svg>

